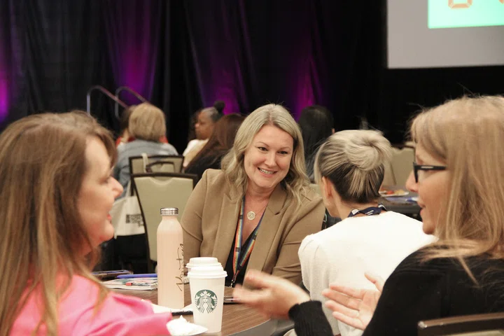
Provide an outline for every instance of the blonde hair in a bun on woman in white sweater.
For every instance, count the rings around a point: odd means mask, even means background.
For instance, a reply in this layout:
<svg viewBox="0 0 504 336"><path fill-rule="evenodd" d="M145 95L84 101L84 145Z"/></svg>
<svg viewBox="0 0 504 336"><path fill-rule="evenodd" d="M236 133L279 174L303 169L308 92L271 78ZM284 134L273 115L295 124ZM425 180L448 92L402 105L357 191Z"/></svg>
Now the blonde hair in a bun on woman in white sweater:
<svg viewBox="0 0 504 336"><path fill-rule="evenodd" d="M315 181L327 177L344 202L369 203L379 197L385 164L391 156L391 144L381 132L337 132L318 149Z"/></svg>

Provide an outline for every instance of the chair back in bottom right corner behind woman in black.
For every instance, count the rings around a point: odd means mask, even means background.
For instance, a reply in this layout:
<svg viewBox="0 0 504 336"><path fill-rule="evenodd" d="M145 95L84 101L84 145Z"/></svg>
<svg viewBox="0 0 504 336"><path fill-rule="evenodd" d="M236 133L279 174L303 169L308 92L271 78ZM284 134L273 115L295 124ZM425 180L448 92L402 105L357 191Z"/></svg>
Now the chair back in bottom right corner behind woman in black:
<svg viewBox="0 0 504 336"><path fill-rule="evenodd" d="M418 336L503 336L504 312L420 321Z"/></svg>

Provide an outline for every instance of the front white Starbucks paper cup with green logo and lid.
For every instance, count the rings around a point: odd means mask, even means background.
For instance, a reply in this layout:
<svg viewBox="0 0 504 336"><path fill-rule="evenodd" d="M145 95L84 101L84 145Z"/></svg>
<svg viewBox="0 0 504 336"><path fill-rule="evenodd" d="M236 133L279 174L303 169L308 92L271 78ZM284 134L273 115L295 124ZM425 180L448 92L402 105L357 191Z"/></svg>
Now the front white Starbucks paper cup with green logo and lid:
<svg viewBox="0 0 504 336"><path fill-rule="evenodd" d="M221 331L227 275L220 263L191 267L188 274L194 322L208 328L208 332Z"/></svg>

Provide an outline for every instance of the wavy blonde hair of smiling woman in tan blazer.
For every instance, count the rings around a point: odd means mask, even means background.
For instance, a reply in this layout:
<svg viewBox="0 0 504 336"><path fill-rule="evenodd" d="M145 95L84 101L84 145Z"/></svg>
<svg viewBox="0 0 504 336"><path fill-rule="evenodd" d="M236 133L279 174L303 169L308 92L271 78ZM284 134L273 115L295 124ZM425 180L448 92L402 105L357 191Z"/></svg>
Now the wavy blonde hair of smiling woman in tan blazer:
<svg viewBox="0 0 504 336"><path fill-rule="evenodd" d="M293 156L287 176L281 181L288 198L301 202L302 195L308 192L309 180L304 166L302 136L295 120L281 105L268 104L253 111L238 129L235 145L222 160L225 177L233 186L237 186L239 197L245 195L248 177L244 168L244 154L251 146L255 134L265 125L278 127L293 137Z"/></svg>

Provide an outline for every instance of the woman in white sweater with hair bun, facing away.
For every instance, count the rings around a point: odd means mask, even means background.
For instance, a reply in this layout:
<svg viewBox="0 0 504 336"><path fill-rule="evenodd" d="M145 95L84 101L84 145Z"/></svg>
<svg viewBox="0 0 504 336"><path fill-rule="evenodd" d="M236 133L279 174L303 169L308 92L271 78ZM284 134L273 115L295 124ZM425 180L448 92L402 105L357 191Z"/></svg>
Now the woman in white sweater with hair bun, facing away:
<svg viewBox="0 0 504 336"><path fill-rule="evenodd" d="M324 302L322 290L331 282L374 288L364 272L386 279L410 253L435 240L423 233L421 222L379 207L391 153L388 140L371 130L337 132L316 153L315 179L325 207L343 221L301 243L302 280L311 300ZM327 307L324 312L334 335L362 334L332 318Z"/></svg>

